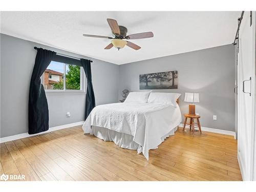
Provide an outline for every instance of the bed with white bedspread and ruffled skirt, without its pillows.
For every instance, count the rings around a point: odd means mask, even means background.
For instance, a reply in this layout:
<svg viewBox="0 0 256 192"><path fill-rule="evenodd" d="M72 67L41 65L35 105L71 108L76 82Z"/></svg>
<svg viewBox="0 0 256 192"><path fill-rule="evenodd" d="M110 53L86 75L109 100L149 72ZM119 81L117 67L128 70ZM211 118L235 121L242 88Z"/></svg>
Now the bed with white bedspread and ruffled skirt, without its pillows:
<svg viewBox="0 0 256 192"><path fill-rule="evenodd" d="M85 134L113 141L122 148L137 150L148 160L148 151L174 135L181 122L180 108L174 99L173 103L148 102L147 98L143 98L143 102L132 100L98 105L82 129Z"/></svg>

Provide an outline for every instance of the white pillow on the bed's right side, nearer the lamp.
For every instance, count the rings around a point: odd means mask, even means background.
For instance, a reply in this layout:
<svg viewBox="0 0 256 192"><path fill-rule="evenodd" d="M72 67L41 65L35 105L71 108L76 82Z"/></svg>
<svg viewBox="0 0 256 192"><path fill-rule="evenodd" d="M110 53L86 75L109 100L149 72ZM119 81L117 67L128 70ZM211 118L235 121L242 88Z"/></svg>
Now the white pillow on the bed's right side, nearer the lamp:
<svg viewBox="0 0 256 192"><path fill-rule="evenodd" d="M157 93L153 92L148 97L148 103L172 104L176 107L176 101L181 96L180 93Z"/></svg>

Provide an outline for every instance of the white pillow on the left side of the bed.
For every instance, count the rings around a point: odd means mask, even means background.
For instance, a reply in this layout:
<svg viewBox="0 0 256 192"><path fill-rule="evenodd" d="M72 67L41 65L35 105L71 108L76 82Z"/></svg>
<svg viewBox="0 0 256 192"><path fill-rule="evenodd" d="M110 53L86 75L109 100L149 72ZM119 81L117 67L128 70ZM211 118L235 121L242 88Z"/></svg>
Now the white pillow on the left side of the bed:
<svg viewBox="0 0 256 192"><path fill-rule="evenodd" d="M126 103L146 103L152 91L130 92L126 97Z"/></svg>

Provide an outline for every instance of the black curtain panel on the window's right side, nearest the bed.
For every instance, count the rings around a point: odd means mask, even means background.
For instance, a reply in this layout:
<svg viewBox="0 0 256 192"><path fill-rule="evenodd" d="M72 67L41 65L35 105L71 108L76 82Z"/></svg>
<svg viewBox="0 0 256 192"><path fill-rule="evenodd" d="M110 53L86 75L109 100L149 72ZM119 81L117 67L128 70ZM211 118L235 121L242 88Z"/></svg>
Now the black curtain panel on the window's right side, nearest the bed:
<svg viewBox="0 0 256 192"><path fill-rule="evenodd" d="M81 59L81 66L83 67L83 70L86 73L86 77L87 77L86 117L85 117L85 119L87 119L90 112L95 107L95 97L93 92L92 72L91 72L91 61L87 59Z"/></svg>

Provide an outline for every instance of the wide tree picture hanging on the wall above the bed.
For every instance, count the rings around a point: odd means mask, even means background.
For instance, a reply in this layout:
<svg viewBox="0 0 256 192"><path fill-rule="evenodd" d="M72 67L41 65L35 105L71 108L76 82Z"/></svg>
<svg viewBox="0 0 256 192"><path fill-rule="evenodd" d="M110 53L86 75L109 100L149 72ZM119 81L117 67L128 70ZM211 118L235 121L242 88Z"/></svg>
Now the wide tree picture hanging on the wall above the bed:
<svg viewBox="0 0 256 192"><path fill-rule="evenodd" d="M140 75L140 90L178 89L178 71Z"/></svg>

